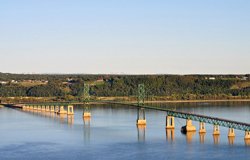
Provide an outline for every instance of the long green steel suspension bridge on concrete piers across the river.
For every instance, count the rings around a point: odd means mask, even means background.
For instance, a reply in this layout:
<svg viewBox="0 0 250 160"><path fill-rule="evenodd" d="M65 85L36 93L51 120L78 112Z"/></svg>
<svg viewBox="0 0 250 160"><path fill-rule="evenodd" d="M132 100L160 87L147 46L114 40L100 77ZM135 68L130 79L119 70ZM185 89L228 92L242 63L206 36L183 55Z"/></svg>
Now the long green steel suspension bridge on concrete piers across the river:
<svg viewBox="0 0 250 160"><path fill-rule="evenodd" d="M175 129L175 118L182 118L186 119L186 125L181 128L181 131L184 133L192 133L196 132L196 127L192 124L192 121L199 122L199 133L205 134L206 128L205 124L212 124L213 128L213 135L218 136L220 135L219 126L227 127L228 128L228 137L234 138L235 131L242 130L245 131L245 140L250 141L250 124L237 122L233 120L218 118L218 117L210 117L195 113L187 113L181 111L175 111L172 109L161 108L161 107L154 107L154 106L147 106L144 104L145 99L145 89L144 85L140 84L138 86L138 102L137 103L128 103L128 102L117 102L117 101L91 101L89 95L89 86L84 86L84 118L90 118L91 112L89 104L91 102L98 102L98 103L106 103L106 104L119 104L119 105L126 105L131 106L137 109L137 121L136 124L139 127L146 126L146 115L145 109L148 110L157 110L166 112L166 129L167 130L174 130ZM74 107L73 105L77 102L47 102L47 103L29 103L29 104L20 104L20 105L10 105L14 108L20 108L24 111L38 111L38 112L53 112L56 114L67 114L67 115L74 115ZM79 103L79 102L78 102ZM65 109L67 107L67 109Z"/></svg>

